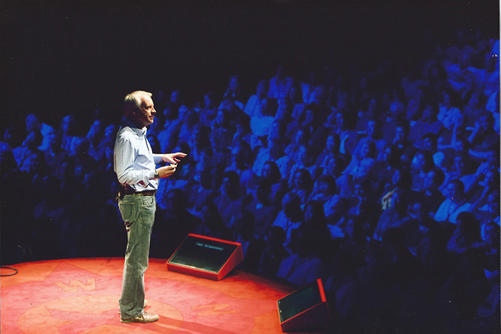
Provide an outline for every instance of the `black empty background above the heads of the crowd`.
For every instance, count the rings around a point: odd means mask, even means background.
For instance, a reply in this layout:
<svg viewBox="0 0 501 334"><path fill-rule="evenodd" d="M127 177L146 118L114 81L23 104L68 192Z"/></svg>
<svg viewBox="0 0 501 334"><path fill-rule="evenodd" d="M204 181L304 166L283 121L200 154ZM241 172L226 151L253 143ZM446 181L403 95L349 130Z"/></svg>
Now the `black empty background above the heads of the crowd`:
<svg viewBox="0 0 501 334"><path fill-rule="evenodd" d="M438 4L437 4L438 3ZM178 88L185 102L222 94L232 74L250 95L284 63L303 70L412 64L457 28L499 38L483 1L1 1L1 129L40 114L58 127L94 109L121 114L132 90ZM446 46L446 45L444 45ZM249 96L247 95L247 96ZM216 95L217 96L217 95ZM153 96L154 98L155 96ZM3 132L3 131L2 131Z"/></svg>

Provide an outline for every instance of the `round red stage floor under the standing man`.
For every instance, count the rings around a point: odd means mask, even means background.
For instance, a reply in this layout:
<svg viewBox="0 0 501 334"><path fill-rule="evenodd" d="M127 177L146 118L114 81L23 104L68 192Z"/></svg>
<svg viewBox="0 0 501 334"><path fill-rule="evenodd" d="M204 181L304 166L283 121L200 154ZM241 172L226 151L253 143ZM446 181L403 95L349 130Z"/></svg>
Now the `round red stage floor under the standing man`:
<svg viewBox="0 0 501 334"><path fill-rule="evenodd" d="M276 301L288 286L238 270L200 279L165 262L150 259L146 271L146 311L160 315L149 324L119 320L123 258L16 264L0 281L1 333L282 333Z"/></svg>

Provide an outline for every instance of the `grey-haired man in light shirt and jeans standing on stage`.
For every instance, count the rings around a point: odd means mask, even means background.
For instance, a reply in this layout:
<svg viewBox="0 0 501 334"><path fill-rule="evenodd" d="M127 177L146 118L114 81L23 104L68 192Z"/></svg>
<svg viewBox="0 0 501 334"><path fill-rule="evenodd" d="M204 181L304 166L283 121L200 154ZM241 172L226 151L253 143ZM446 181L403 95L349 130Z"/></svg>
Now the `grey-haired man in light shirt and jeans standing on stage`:
<svg viewBox="0 0 501 334"><path fill-rule="evenodd" d="M125 124L117 134L114 171L122 185L119 209L127 232L122 296L119 300L122 323L151 323L158 315L144 307L144 272L148 268L151 228L155 219L159 178L176 171L178 158L185 153L154 154L146 139L146 126L153 124L156 110L151 93L131 92L124 99ZM168 166L156 168L161 161Z"/></svg>

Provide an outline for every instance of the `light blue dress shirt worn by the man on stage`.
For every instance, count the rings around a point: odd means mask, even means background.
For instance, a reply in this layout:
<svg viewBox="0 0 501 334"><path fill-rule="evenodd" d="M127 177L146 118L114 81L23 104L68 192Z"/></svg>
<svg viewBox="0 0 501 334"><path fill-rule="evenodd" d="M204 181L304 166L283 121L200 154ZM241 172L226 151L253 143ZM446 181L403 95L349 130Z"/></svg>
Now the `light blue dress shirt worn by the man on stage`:
<svg viewBox="0 0 501 334"><path fill-rule="evenodd" d="M153 176L156 164L162 161L161 154L151 151L146 131L146 127L139 129L127 122L118 131L113 153L119 183L138 192L158 188L158 179Z"/></svg>

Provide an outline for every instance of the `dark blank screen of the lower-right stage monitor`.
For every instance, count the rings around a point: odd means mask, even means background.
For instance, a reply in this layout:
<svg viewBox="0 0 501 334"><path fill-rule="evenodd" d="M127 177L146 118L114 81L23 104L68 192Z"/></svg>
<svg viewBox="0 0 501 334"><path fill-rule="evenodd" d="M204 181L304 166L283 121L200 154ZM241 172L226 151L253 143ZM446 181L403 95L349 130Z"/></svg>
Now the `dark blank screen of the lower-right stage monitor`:
<svg viewBox="0 0 501 334"><path fill-rule="evenodd" d="M303 286L301 289L281 298L279 304L280 322L283 323L289 320L298 313L308 310L322 302L318 283L314 281L312 284Z"/></svg>

